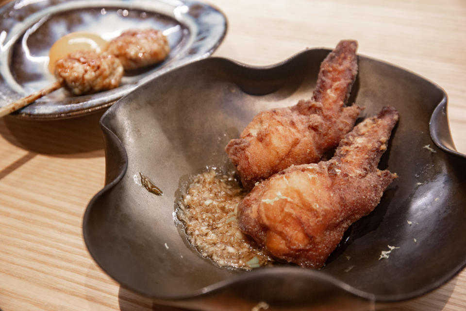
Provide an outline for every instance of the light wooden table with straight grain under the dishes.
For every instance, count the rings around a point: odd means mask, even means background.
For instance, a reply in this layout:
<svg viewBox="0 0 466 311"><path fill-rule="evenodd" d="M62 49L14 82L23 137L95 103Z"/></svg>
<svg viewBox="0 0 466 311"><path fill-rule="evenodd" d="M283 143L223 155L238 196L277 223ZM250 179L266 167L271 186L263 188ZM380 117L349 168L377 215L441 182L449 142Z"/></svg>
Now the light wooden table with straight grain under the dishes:
<svg viewBox="0 0 466 311"><path fill-rule="evenodd" d="M466 154L464 0L216 0L228 34L214 55L269 65L306 47L359 41L359 53L410 69L449 94L449 121ZM173 310L105 275L82 236L84 209L104 184L101 113L62 121L0 120L0 308ZM460 243L458 247L463 247ZM466 271L392 310L466 308Z"/></svg>

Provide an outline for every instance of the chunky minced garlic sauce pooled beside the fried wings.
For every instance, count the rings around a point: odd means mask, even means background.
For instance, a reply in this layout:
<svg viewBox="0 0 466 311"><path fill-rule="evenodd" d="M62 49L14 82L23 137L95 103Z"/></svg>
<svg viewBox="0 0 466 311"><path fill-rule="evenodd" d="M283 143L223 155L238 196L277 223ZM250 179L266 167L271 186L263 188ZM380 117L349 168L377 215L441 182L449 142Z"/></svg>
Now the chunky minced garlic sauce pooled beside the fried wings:
<svg viewBox="0 0 466 311"><path fill-rule="evenodd" d="M249 270L270 264L272 259L238 227L237 207L246 192L233 176L215 170L194 176L177 217L189 242L216 265Z"/></svg>

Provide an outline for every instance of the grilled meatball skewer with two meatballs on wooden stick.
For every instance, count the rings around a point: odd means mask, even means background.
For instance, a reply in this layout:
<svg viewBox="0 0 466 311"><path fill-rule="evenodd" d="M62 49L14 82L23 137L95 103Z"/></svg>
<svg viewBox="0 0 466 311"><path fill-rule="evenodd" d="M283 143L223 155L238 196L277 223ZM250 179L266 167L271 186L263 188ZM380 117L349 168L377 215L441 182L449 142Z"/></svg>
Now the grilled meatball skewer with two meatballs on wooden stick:
<svg viewBox="0 0 466 311"><path fill-rule="evenodd" d="M56 62L55 83L0 107L0 118L63 86L74 95L115 88L120 84L124 69L159 63L169 52L166 36L154 29L126 31L113 39L102 54L94 51L71 52Z"/></svg>

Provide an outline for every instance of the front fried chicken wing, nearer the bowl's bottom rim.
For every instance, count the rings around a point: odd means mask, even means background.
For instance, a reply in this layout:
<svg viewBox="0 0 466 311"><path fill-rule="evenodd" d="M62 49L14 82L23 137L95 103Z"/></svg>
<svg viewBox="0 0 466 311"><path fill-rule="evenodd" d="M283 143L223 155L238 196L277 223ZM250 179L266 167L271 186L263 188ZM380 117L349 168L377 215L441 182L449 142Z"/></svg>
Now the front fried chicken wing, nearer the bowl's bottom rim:
<svg viewBox="0 0 466 311"><path fill-rule="evenodd" d="M355 126L329 161L291 166L255 186L238 206L241 230L279 259L322 267L397 177L377 169L397 121L398 111L384 107Z"/></svg>

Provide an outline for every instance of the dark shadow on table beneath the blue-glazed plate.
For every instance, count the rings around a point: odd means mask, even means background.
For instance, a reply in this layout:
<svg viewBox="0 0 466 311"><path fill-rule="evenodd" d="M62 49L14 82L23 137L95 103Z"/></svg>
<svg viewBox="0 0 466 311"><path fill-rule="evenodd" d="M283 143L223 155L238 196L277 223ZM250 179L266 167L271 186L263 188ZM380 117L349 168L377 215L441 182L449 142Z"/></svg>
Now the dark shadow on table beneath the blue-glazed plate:
<svg viewBox="0 0 466 311"><path fill-rule="evenodd" d="M99 120L104 111L81 117L37 121L6 116L0 135L11 144L36 154L88 158L104 155ZM22 161L27 161L26 156Z"/></svg>

